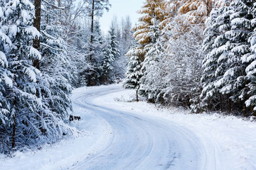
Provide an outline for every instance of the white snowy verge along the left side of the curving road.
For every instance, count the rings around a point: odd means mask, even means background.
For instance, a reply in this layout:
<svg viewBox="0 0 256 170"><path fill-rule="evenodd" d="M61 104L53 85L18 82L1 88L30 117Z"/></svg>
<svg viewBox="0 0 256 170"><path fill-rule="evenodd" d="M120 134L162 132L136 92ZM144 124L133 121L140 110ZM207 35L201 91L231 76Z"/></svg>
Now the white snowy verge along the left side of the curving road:
<svg viewBox="0 0 256 170"><path fill-rule="evenodd" d="M74 93L73 97L78 93ZM74 121L72 126L84 131L85 135L76 139L63 140L54 145L44 145L42 149L29 152L16 152L9 158L0 154L1 170L60 170L68 169L84 161L102 149L111 139L112 129L100 116L90 113L73 104L74 115L82 120ZM86 131L85 131L86 130ZM72 169L72 168L71 168Z"/></svg>

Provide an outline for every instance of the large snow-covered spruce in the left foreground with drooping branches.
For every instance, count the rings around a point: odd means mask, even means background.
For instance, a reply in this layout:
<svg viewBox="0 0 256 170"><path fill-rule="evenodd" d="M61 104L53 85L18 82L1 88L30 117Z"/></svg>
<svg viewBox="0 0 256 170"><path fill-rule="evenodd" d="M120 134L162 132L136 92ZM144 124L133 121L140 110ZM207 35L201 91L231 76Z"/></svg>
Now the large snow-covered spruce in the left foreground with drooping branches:
<svg viewBox="0 0 256 170"><path fill-rule="evenodd" d="M13 85L6 89L10 114L9 126L4 129L5 150L53 142L68 132L58 115L48 108L48 98L51 98L48 81L33 67L33 60L41 59L40 52L32 46L33 39L40 36L33 27L33 13L30 1L10 0L1 21L1 30L12 44L5 54L13 79Z"/></svg>

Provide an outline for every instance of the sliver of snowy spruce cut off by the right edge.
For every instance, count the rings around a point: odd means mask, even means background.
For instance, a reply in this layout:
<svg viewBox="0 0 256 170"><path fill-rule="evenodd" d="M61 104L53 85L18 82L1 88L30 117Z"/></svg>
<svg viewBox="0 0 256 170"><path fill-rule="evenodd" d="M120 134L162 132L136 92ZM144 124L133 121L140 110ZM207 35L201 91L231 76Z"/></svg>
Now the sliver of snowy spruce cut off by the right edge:
<svg viewBox="0 0 256 170"><path fill-rule="evenodd" d="M250 34L249 38L251 55L244 58L243 62L247 64L245 71L248 80L248 95L250 96L250 98L247 98L247 101L245 101L245 104L248 108L251 108L251 113L256 115L256 3L252 7L252 15L250 25L253 32Z"/></svg>

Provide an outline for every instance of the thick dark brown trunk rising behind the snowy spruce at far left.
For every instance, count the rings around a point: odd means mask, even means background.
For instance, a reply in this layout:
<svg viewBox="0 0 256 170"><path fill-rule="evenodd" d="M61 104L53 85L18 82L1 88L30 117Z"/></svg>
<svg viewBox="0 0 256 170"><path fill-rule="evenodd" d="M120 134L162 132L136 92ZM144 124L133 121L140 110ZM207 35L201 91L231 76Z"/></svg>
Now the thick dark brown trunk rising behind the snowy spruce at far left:
<svg viewBox="0 0 256 170"><path fill-rule="evenodd" d="M33 22L33 26L40 32L40 26L41 26L41 0L34 0L35 5L35 19ZM33 47L36 48L36 50L40 51L40 38L36 38L33 40ZM36 69L40 69L40 61L38 59L33 60L33 67L36 67Z"/></svg>

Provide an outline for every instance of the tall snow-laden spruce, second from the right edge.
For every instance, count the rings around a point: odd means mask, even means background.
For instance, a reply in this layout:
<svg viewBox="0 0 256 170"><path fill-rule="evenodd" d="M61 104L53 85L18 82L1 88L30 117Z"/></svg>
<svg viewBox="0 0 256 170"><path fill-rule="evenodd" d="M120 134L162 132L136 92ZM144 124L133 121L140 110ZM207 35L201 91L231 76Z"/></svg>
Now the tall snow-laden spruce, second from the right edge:
<svg viewBox="0 0 256 170"><path fill-rule="evenodd" d="M231 112L231 104L235 103L234 109L243 110L245 113L245 100L247 98L247 87L245 84L246 64L242 63L242 58L247 57L250 52L250 42L248 34L252 32L250 20L252 19L252 1L235 0L230 4L228 12L230 19L230 30L225 32L226 49L223 55L220 55L218 62L226 64L218 72L222 76L215 84L220 89L220 93L228 96L228 112ZM224 13L224 16L226 14ZM231 103L232 102L232 103Z"/></svg>

